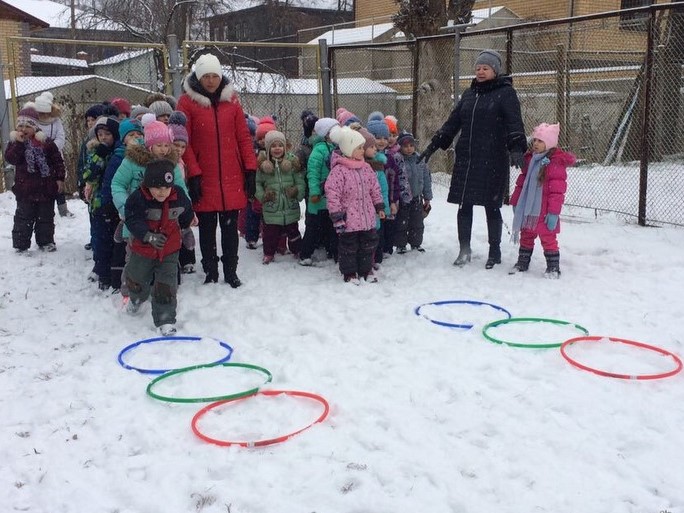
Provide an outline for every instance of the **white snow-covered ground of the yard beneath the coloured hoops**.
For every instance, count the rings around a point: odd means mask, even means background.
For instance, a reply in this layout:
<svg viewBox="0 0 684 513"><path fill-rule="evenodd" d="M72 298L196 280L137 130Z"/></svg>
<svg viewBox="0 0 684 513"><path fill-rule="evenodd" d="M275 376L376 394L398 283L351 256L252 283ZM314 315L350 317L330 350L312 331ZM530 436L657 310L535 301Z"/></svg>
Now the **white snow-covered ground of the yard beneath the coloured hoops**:
<svg viewBox="0 0 684 513"><path fill-rule="evenodd" d="M572 189L573 184L569 187ZM120 296L88 282L85 204L56 218L55 253L12 249L15 201L0 194L0 504L31 513L684 513L683 373L625 380L583 371L558 348L495 344L599 340L568 348L608 372L666 373L684 355L680 320L681 228L565 208L562 275L543 277L537 246L527 273L509 275L517 248L484 269L484 211L475 209L473 260L452 265L455 205L435 184L426 252L393 255L377 284L344 283L331 261L292 255L261 264L241 241L244 285L179 289L179 335L143 343L128 365L216 366L158 382L157 394L210 397L262 390L320 396L329 413L266 447L220 447L191 421L207 403L149 397L154 376L123 368L125 347L155 338L149 305L130 316ZM302 223L303 227L303 223ZM320 258L321 255L318 255ZM429 303L454 301L436 306ZM421 316L415 309L421 306ZM473 324L453 329L437 320ZM198 421L212 438L258 440L302 429L323 403L258 395L215 407Z"/></svg>

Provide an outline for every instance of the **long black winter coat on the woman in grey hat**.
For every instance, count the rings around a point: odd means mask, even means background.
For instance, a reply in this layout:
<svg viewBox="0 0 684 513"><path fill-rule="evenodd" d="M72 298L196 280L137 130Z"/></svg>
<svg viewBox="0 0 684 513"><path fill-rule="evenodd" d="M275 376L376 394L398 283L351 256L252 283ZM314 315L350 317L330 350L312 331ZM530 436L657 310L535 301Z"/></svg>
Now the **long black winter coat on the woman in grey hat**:
<svg viewBox="0 0 684 513"><path fill-rule="evenodd" d="M527 150L520 102L510 76L473 80L432 142L446 150L459 132L447 201L501 207L510 172L509 152Z"/></svg>

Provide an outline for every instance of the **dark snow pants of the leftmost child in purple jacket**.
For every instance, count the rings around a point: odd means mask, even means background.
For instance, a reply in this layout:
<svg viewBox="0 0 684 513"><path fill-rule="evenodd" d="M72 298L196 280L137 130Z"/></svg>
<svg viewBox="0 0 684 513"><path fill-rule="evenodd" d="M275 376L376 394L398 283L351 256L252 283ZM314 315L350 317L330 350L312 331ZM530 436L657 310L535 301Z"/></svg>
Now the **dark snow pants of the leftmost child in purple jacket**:
<svg viewBox="0 0 684 513"><path fill-rule="evenodd" d="M17 198L12 227L12 247L26 250L31 247L31 236L36 232L38 246L55 242L55 200L30 201Z"/></svg>

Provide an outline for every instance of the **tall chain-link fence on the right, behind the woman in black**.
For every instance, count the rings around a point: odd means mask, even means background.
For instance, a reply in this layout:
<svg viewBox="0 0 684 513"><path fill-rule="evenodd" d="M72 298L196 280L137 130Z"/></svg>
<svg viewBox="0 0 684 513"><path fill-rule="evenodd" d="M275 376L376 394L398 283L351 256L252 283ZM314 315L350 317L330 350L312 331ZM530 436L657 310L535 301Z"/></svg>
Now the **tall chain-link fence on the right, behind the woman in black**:
<svg viewBox="0 0 684 513"><path fill-rule="evenodd" d="M527 131L540 122L561 123L561 145L578 157L567 204L617 212L642 225L684 225L682 7L335 46L333 82L367 77L395 89L389 113L425 147L470 86L475 59L487 48L504 56ZM335 102L362 119L382 110ZM453 159L453 150L438 152L431 168L450 173ZM512 169L512 183L517 173Z"/></svg>

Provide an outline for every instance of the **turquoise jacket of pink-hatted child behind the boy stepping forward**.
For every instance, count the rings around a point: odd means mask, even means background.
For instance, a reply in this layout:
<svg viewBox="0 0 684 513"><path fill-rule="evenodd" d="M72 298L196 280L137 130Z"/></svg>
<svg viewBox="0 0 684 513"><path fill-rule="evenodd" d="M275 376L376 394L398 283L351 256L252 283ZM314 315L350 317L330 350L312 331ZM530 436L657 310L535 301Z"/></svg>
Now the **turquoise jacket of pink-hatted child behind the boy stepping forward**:
<svg viewBox="0 0 684 513"><path fill-rule="evenodd" d="M172 149L167 158L176 164L173 169L173 183L183 189L185 194L188 194L185 180L183 180L183 172L178 165L176 150ZM155 159L157 157L143 145L133 145L126 148L125 158L118 166L111 182L112 200L122 218L128 196L140 187L143 176L145 176L145 166ZM128 237L129 235L127 226L124 226L123 236Z"/></svg>

